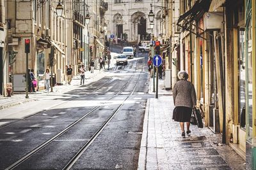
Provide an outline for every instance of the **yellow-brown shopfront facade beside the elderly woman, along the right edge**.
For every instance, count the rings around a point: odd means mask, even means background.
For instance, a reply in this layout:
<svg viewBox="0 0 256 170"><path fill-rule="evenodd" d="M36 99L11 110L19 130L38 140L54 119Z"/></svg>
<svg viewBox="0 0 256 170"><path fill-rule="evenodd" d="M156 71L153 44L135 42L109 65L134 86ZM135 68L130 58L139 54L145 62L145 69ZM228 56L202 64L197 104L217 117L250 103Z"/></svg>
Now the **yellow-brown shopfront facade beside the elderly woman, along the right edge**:
<svg viewBox="0 0 256 170"><path fill-rule="evenodd" d="M205 125L255 169L255 1L179 1L179 10L172 67L188 71Z"/></svg>

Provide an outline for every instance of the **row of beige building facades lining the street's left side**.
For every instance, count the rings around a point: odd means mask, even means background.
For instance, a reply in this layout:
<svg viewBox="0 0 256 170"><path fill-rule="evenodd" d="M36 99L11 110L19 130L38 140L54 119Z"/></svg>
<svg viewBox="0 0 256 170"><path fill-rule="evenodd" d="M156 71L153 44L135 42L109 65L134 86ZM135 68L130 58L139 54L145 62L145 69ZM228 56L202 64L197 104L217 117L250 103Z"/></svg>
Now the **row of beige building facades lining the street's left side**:
<svg viewBox="0 0 256 170"><path fill-rule="evenodd" d="M66 65L72 65L74 75L79 74L81 64L88 67L89 29L84 18L94 4L63 1L63 13L58 17L58 1L0 2L1 95L6 96L7 83L12 83L14 91L26 88L26 67L20 67L26 66L25 39L30 40L28 68L34 69L39 89L44 89L42 78L47 68L54 83L61 85Z"/></svg>

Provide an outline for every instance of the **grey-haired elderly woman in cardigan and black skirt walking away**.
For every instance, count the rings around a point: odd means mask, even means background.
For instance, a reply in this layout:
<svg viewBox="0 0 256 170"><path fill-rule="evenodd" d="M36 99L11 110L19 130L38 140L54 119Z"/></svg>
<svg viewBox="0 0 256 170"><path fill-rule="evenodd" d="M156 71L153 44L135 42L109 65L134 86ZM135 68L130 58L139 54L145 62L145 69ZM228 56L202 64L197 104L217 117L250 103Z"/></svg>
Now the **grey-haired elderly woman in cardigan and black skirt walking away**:
<svg viewBox="0 0 256 170"><path fill-rule="evenodd" d="M173 87L175 108L172 119L180 122L181 136L185 138L184 122L187 124L187 134L189 135L191 133L189 130L191 113L193 107L196 106L196 92L193 83L188 81L188 73L186 71L180 71L178 78L179 81Z"/></svg>

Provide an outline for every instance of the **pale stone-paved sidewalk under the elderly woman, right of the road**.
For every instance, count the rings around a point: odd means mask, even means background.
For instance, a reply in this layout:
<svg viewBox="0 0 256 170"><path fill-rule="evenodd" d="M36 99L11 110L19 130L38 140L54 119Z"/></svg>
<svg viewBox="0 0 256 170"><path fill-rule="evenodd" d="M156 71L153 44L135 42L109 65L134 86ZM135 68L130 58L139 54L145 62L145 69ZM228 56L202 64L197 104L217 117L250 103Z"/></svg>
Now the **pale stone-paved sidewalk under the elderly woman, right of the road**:
<svg viewBox="0 0 256 170"><path fill-rule="evenodd" d="M221 135L191 125L191 136L181 137L172 120L172 96L148 99L138 169L245 169L245 161ZM186 129L186 125L185 125Z"/></svg>

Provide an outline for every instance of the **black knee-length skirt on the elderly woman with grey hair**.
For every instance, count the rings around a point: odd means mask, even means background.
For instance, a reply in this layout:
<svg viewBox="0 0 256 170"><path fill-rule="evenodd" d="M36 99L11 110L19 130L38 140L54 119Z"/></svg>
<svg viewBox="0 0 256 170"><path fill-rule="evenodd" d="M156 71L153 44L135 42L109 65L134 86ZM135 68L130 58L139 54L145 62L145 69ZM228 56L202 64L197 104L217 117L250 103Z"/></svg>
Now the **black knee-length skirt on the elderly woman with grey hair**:
<svg viewBox="0 0 256 170"><path fill-rule="evenodd" d="M190 122L192 108L177 106L173 110L172 119L176 122Z"/></svg>

